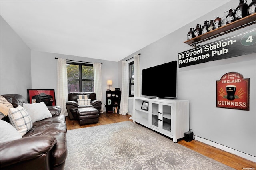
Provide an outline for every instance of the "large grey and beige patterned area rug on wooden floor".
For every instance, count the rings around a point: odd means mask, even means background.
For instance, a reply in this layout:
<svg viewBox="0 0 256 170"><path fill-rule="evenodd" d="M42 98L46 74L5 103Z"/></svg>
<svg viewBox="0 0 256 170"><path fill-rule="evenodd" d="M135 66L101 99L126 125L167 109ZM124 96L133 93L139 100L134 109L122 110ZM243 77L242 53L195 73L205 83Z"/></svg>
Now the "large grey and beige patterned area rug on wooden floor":
<svg viewBox="0 0 256 170"><path fill-rule="evenodd" d="M65 170L232 169L130 121L68 130Z"/></svg>

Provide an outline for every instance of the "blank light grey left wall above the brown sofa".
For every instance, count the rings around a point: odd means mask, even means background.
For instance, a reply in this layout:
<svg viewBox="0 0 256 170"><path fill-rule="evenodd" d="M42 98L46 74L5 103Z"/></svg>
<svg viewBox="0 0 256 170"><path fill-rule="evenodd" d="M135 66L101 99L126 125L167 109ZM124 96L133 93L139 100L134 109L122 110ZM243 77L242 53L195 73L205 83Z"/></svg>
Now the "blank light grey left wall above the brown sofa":
<svg viewBox="0 0 256 170"><path fill-rule="evenodd" d="M30 49L1 16L0 94L27 97L31 88Z"/></svg>

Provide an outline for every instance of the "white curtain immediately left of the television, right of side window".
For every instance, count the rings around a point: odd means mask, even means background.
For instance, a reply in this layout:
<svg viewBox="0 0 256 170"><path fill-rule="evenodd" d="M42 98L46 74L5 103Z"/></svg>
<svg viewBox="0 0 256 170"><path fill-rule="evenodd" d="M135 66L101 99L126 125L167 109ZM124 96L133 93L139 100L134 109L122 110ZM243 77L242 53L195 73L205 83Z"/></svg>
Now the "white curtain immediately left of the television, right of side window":
<svg viewBox="0 0 256 170"><path fill-rule="evenodd" d="M140 97L140 55L134 55L134 97ZM134 107L134 106L133 106ZM132 109L132 116L130 119L133 120L134 111Z"/></svg>

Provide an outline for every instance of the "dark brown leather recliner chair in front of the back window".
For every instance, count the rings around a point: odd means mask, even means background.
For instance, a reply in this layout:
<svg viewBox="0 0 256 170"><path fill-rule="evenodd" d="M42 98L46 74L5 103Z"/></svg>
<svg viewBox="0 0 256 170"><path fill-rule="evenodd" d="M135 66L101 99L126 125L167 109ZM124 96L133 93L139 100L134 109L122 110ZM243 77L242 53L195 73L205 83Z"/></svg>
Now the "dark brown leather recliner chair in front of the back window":
<svg viewBox="0 0 256 170"><path fill-rule="evenodd" d="M87 95L89 94L89 99L91 99L90 105L78 105L77 95ZM68 94L68 101L66 102L66 108L68 111L68 116L71 120L78 119L77 110L85 107L94 107L99 112L101 109L101 101L96 99L96 94L94 92L72 92Z"/></svg>

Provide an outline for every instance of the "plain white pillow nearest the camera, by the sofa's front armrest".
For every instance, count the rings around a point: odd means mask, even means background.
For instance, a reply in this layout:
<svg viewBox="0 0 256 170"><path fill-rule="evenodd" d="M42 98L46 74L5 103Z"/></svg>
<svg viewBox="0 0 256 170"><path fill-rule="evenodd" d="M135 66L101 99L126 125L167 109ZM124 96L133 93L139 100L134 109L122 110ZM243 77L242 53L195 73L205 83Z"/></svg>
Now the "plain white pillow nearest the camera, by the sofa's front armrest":
<svg viewBox="0 0 256 170"><path fill-rule="evenodd" d="M22 138L21 134L10 123L0 120L0 142L8 142Z"/></svg>

